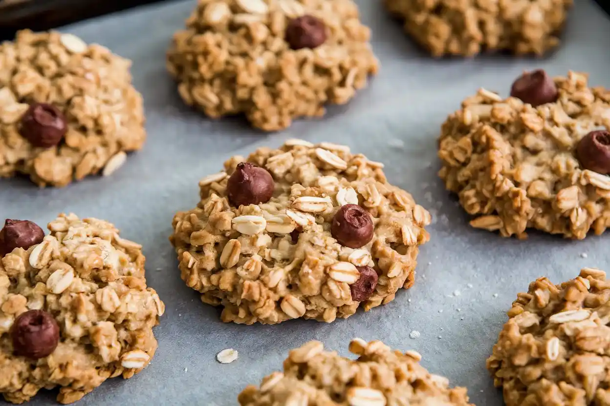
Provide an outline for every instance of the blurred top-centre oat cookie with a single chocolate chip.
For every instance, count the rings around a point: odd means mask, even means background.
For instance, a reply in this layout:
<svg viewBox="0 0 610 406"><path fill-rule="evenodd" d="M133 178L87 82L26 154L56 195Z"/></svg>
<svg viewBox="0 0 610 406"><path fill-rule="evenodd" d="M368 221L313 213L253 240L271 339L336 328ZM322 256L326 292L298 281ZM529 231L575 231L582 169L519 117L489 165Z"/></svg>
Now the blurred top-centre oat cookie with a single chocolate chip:
<svg viewBox="0 0 610 406"><path fill-rule="evenodd" d="M167 54L184 102L265 131L348 102L378 70L352 0L203 0L186 26Z"/></svg>

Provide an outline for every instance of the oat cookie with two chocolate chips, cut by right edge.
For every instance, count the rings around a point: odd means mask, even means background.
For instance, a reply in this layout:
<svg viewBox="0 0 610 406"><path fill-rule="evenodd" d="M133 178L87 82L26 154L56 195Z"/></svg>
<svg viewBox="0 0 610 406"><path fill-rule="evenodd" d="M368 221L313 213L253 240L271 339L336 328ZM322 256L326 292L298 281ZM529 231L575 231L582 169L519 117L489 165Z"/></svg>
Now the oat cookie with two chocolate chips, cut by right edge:
<svg viewBox="0 0 610 406"><path fill-rule="evenodd" d="M605 127L605 130L601 128ZM610 225L610 91L585 74L526 72L511 97L480 89L442 125L439 175L476 228L583 239Z"/></svg>

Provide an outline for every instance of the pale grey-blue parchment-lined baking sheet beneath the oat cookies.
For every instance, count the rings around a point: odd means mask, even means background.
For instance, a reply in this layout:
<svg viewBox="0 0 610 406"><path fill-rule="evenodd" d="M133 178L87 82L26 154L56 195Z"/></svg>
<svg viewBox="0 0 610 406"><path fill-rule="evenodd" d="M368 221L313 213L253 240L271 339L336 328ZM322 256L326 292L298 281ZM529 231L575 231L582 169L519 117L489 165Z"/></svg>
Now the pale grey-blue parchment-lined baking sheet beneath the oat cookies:
<svg viewBox="0 0 610 406"><path fill-rule="evenodd" d="M0 181L0 217L45 225L65 211L110 220L122 236L144 245L146 279L167 306L155 330L159 350L151 365L132 379L108 380L79 405L235 405L248 383L258 384L281 369L289 349L317 339L348 354L353 337L415 349L430 371L447 376L452 385L467 386L475 404L501 405L485 360L517 292L541 275L561 282L585 266L610 270L610 234L581 242L536 233L526 241L502 239L470 228L436 176L440 124L480 86L506 95L523 69L537 67L553 75L568 69L587 71L592 85L610 86L610 20L597 5L576 1L563 46L544 60L431 60L403 35L379 1L356 1L362 19L373 29L373 49L381 60L378 77L349 105L271 135L239 118L205 119L176 95L165 72L165 49L195 1L154 5L66 27L85 41L134 60L134 84L145 99L148 142L109 178L44 190L24 179ZM180 279L167 239L171 219L174 212L196 205L199 178L217 172L224 159L293 137L348 144L354 152L386 163L389 180L432 212L431 240L420 251L415 285L398 292L386 306L332 324L221 323L218 310L201 303ZM420 337L409 338L412 331ZM224 348L237 349L239 359L217 363L215 355ZM41 391L32 404L52 404L55 396L56 391Z"/></svg>

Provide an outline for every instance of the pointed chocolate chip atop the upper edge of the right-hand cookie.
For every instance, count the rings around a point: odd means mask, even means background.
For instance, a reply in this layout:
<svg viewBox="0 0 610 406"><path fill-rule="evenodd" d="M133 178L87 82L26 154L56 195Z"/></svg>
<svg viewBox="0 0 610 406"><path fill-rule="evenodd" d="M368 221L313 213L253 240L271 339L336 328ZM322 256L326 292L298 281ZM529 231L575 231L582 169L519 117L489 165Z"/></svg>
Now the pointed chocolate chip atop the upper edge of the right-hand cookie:
<svg viewBox="0 0 610 406"><path fill-rule="evenodd" d="M542 69L527 72L512 83L511 96L537 107L557 100L557 86Z"/></svg>

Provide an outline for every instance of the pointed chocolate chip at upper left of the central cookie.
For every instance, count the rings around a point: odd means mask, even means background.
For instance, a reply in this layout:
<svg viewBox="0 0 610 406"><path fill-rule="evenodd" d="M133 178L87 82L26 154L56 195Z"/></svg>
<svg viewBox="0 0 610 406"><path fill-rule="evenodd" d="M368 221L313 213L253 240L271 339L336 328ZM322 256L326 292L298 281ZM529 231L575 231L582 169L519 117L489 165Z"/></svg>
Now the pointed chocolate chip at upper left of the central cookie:
<svg viewBox="0 0 610 406"><path fill-rule="evenodd" d="M229 203L235 207L267 203L273 196L275 183L271 174L248 162L237 164L227 182Z"/></svg>

